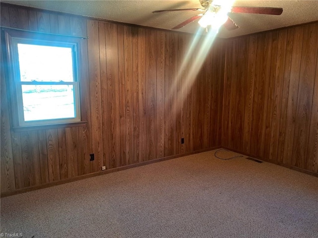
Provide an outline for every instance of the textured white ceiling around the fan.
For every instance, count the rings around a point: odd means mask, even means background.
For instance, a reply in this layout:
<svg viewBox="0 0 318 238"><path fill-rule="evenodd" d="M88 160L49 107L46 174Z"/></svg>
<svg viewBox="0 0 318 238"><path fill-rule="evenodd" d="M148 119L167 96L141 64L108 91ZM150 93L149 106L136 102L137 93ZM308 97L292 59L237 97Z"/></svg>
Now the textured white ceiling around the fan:
<svg viewBox="0 0 318 238"><path fill-rule="evenodd" d="M154 10L200 8L199 0L1 0L11 4L36 7L105 20L171 29L198 14L195 11L163 12ZM281 27L318 21L318 0L236 0L234 6L282 7L282 15L229 13L239 29L220 29L219 37L229 38ZM199 29L194 21L178 31L195 33Z"/></svg>

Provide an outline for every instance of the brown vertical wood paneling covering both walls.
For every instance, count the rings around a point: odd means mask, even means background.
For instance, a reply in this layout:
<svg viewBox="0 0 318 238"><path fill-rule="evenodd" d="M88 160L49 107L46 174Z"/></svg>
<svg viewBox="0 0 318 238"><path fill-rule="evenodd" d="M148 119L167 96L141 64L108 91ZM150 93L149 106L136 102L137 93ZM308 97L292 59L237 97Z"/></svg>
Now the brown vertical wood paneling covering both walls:
<svg viewBox="0 0 318 238"><path fill-rule="evenodd" d="M187 34L11 8L1 24L89 37L79 54L86 126L1 129L13 189L218 145L317 171L317 23L216 40L195 75L203 36L183 64Z"/></svg>

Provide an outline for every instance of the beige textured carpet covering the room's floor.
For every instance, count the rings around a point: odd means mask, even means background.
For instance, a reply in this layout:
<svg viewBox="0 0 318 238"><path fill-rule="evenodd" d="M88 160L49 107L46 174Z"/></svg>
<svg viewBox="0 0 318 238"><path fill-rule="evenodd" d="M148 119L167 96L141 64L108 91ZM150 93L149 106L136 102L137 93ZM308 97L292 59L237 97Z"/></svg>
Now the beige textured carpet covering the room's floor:
<svg viewBox="0 0 318 238"><path fill-rule="evenodd" d="M2 198L1 233L318 238L318 178L214 152Z"/></svg>

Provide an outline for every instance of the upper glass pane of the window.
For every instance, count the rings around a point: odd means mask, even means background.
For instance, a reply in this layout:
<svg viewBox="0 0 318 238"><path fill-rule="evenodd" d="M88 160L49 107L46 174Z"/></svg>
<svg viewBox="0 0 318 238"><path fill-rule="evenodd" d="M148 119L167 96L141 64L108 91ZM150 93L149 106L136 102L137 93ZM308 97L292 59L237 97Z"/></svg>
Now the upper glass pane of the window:
<svg viewBox="0 0 318 238"><path fill-rule="evenodd" d="M21 81L74 81L72 48L17 45Z"/></svg>

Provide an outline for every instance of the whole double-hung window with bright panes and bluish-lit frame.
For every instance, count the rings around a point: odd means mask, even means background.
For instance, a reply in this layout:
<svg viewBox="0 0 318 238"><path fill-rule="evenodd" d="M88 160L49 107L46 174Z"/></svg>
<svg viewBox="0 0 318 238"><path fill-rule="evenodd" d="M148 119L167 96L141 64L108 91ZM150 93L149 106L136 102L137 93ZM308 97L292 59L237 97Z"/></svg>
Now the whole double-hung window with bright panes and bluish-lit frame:
<svg viewBox="0 0 318 238"><path fill-rule="evenodd" d="M80 121L80 39L5 31L14 126Z"/></svg>

